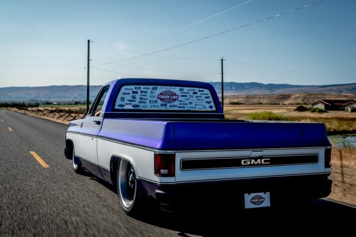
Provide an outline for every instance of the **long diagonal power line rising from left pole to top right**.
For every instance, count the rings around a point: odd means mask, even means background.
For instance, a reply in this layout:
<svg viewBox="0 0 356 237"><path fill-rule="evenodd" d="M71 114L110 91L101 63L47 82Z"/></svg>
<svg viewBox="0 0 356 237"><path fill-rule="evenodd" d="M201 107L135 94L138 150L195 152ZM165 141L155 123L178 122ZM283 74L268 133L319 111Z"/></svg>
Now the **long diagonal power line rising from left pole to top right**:
<svg viewBox="0 0 356 237"><path fill-rule="evenodd" d="M206 40L206 39L209 39L209 38L212 38L212 37L215 37L215 36L223 35L223 34L225 34L225 33L228 33L228 32L231 32L231 31L235 31L235 30L238 30L238 29L247 27L247 26L251 26L251 25L256 24L256 23L260 23L260 22L263 22L263 21L267 21L267 20L269 20L269 19L272 19L272 18L281 16L281 15L285 15L285 14L290 13L290 12L294 12L294 11L297 11L297 10L300 10L300 9L303 9L303 8L306 8L306 7L315 5L315 4L320 3L320 2L323 2L323 1L325 1L325 0L319 0L319 1L313 2L313 3L311 3L311 4L305 5L305 6L301 6L301 7L298 7L298 8L295 8L295 9L292 9L292 10L289 10L289 11L286 11L286 12L283 12L283 13L280 13L280 14L277 14L277 15L274 15L274 16L270 16L270 17L264 18L264 19L259 20L259 21L255 21L255 22L252 22L252 23L243 25L243 26L239 26L239 27L236 27L236 28L227 30L227 31L223 31L223 32L217 33L217 34L214 34L214 35L211 35L211 36L203 37L203 38L200 38L200 39L198 39L198 40L192 40L192 41L189 41L189 42L186 42L186 43L181 43L181 44L178 44L178 45L176 45L176 46L169 47L169 48L157 50L157 51L154 51L154 52L151 52L151 53L146 53L146 54L142 54L142 55L135 56L135 57L131 57L131 58L127 58L127 59L117 60L117 61L114 61L114 62L111 62L111 63L123 62L123 61L131 60L131 59L135 59L135 58L140 58L140 57L143 57L143 56L152 55L152 54L155 54L155 53L167 51L167 50L170 50L170 49L173 49L173 48L178 48L178 47L180 47L180 46L184 46L184 45L187 45L187 44L190 44L190 43L194 43L194 42L197 42L197 41L200 41L200 40ZM102 64L102 65L104 65L104 64ZM101 66L101 65L96 65L96 66Z"/></svg>

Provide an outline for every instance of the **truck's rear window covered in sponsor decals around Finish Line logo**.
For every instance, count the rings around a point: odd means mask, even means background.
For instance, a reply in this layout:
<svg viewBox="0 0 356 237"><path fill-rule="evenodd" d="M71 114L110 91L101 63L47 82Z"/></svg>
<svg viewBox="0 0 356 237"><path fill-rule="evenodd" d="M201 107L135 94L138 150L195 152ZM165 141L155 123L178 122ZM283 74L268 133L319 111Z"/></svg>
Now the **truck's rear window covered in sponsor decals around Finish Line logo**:
<svg viewBox="0 0 356 237"><path fill-rule="evenodd" d="M115 110L216 111L209 89L162 85L124 85Z"/></svg>

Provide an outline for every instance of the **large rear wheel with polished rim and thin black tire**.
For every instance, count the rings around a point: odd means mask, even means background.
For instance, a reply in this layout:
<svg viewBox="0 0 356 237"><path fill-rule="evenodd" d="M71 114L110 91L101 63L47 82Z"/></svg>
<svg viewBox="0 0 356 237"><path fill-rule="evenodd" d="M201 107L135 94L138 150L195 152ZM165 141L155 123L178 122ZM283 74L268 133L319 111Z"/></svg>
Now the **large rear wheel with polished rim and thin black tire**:
<svg viewBox="0 0 356 237"><path fill-rule="evenodd" d="M120 159L117 167L117 191L121 208L126 214L137 214L140 196L134 166L126 159Z"/></svg>

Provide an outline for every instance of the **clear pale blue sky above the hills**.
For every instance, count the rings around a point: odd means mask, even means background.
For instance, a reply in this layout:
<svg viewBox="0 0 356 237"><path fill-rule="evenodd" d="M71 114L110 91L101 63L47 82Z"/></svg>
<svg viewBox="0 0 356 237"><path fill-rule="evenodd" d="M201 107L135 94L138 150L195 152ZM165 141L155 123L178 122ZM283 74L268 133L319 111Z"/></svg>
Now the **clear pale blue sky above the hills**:
<svg viewBox="0 0 356 237"><path fill-rule="evenodd" d="M87 40L96 85L127 77L219 81L222 57L224 81L355 83L356 1L289 12L316 1L2 0L0 87L86 84Z"/></svg>

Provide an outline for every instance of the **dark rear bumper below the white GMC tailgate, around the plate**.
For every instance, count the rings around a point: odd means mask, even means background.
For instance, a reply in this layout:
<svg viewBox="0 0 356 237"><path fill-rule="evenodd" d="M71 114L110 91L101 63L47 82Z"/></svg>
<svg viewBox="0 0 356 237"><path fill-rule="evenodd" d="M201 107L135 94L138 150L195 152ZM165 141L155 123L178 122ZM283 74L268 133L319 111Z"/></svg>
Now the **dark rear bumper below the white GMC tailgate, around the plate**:
<svg viewBox="0 0 356 237"><path fill-rule="evenodd" d="M270 177L244 180L155 184L137 180L141 194L157 200L161 209L196 206L202 202L244 207L244 194L270 192L271 206L291 200L327 197L331 193L330 174ZM218 202L217 202L218 201Z"/></svg>

